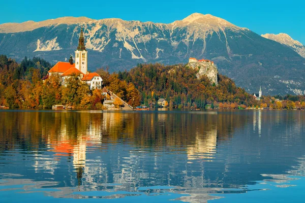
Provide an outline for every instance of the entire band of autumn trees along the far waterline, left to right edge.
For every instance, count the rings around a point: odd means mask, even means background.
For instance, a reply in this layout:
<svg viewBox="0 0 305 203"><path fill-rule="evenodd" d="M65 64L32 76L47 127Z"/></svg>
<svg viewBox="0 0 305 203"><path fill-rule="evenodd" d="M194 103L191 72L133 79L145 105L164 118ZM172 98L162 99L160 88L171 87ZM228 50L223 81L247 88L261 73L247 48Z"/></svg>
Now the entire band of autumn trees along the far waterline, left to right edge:
<svg viewBox="0 0 305 203"><path fill-rule="evenodd" d="M9 108L51 108L71 105L78 109L103 109L101 90L89 90L77 75L62 85L60 76L46 79L52 64L44 59L24 58L20 63L0 55L0 106ZM197 78L197 71L186 65L138 64L130 71L110 74L98 69L104 85L132 107L158 108L158 99L165 98L169 108L272 108L304 109L304 96L263 96L257 101L245 89L237 87L226 76L219 75L218 85L211 85L206 76Z"/></svg>

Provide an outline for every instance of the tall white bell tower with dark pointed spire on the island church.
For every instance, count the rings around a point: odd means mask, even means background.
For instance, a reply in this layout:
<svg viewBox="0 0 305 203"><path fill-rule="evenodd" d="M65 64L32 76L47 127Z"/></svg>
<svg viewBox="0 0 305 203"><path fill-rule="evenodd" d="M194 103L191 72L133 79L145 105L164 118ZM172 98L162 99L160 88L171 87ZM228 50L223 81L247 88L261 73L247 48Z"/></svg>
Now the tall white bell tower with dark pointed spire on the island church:
<svg viewBox="0 0 305 203"><path fill-rule="evenodd" d="M85 47L82 28L80 30L77 50L75 51L75 68L83 74L87 74L88 72L88 52Z"/></svg>

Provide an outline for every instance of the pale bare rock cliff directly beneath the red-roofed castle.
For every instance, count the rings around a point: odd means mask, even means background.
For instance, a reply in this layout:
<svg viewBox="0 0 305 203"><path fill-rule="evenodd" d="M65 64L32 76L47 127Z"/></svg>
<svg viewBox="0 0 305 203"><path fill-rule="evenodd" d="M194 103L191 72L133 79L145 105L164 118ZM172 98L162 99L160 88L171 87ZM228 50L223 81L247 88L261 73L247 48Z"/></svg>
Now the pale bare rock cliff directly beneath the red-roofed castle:
<svg viewBox="0 0 305 203"><path fill-rule="evenodd" d="M189 67L198 69L197 78L205 75L211 81L211 84L218 85L218 69L214 63L211 62L189 62Z"/></svg>

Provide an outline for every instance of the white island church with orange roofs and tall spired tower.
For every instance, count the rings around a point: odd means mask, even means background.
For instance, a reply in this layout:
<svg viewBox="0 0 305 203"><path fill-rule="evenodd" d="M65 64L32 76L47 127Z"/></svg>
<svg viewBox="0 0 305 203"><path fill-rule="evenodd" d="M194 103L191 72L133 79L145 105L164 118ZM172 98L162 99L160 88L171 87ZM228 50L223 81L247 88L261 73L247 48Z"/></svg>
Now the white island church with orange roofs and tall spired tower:
<svg viewBox="0 0 305 203"><path fill-rule="evenodd" d="M57 62L49 71L48 75L43 80L51 77L53 74L59 74L62 76L62 84L65 84L67 78L71 75L78 75L81 81L86 83L89 89L101 89L103 86L103 79L97 73L88 72L88 51L85 47L85 39L83 37L83 30L80 30L80 36L78 40L78 46L75 51L75 63L72 56L70 56L69 62Z"/></svg>

